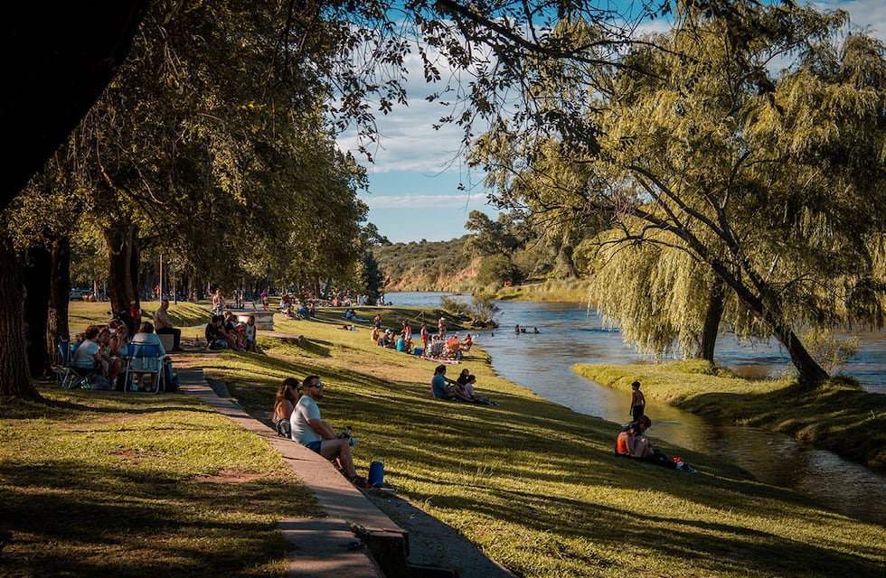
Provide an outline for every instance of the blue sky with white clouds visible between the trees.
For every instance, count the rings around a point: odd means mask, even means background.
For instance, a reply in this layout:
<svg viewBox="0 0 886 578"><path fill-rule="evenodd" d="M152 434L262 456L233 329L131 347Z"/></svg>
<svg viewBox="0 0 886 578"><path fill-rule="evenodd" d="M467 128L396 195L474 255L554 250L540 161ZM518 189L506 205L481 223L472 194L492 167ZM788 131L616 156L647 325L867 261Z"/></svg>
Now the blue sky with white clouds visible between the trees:
<svg viewBox="0 0 886 578"><path fill-rule="evenodd" d="M824 0L815 5L843 8L854 30L867 29L886 42L886 0ZM448 109L425 100L431 89L424 84L418 59L412 64L409 106L376 117L379 139L369 146L374 162L357 151L353 133L341 135L338 144L366 167L369 191L359 197L369 206L367 220L391 242L459 238L468 233L471 210L482 210L492 219L498 211L486 203L485 175L469 170L459 157L461 129L434 129Z"/></svg>

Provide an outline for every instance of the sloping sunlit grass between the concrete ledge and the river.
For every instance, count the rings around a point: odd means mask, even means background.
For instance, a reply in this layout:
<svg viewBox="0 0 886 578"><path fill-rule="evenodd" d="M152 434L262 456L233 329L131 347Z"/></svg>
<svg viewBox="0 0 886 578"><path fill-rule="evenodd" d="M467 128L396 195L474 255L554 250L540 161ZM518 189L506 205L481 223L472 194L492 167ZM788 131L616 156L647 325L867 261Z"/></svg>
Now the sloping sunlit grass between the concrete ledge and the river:
<svg viewBox="0 0 886 578"><path fill-rule="evenodd" d="M401 493L518 575L881 575L882 526L665 444L700 472L617 458L613 424L496 376L481 350L452 369L470 368L502 406L432 400L433 362L382 350L368 329L337 322L285 322L306 337L303 348L269 340L267 358L224 353L208 371L259 417L282 378L320 375L324 417L353 426L358 469L382 460Z"/></svg>

